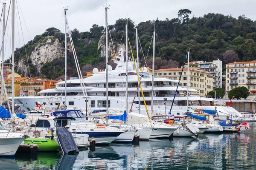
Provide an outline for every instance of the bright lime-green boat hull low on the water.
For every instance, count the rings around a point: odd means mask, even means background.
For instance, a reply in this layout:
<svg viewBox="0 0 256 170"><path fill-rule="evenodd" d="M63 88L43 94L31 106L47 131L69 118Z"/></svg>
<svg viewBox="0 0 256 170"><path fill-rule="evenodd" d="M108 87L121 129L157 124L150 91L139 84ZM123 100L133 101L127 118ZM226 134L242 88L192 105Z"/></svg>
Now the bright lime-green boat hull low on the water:
<svg viewBox="0 0 256 170"><path fill-rule="evenodd" d="M61 148L55 138L27 138L24 140L24 144L38 144L38 151L58 151Z"/></svg>

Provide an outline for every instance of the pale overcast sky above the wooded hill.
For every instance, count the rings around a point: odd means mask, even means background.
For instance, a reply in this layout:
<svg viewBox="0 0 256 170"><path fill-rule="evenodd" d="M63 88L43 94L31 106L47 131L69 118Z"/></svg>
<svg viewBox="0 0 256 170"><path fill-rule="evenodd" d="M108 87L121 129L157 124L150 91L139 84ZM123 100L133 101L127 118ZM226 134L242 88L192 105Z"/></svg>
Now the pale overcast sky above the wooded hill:
<svg viewBox="0 0 256 170"><path fill-rule="evenodd" d="M3 0L2 0L3 1ZM138 24L146 20L165 20L177 17L180 9L192 11L190 17L203 16L209 12L232 14L234 17L245 14L256 20L256 0L15 0L18 12L15 16L15 46L20 47L24 42L32 40L35 35L42 34L47 28L55 27L64 31L64 6L68 6L67 18L70 28L77 28L80 32L89 31L93 24L105 26L105 6L108 10L108 24L114 24L119 18L131 18ZM9 8L6 0L6 10ZM0 5L2 8L2 5ZM2 10L1 10L2 11ZM16 18L16 19L17 19ZM9 18L7 29L11 28ZM23 37L21 28L23 30ZM26 24L26 26L25 26ZM2 21L0 23L2 25ZM20 27L20 26L19 26ZM2 31L2 26L0 26ZM10 54L10 32L6 33L6 56Z"/></svg>

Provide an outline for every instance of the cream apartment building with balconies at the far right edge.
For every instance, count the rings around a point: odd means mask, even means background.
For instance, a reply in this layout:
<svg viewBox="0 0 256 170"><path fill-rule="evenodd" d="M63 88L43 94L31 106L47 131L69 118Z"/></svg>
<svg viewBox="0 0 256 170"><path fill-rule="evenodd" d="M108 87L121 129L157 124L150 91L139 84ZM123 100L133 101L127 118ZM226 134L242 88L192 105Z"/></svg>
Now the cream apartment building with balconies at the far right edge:
<svg viewBox="0 0 256 170"><path fill-rule="evenodd" d="M236 87L246 87L256 94L256 60L226 64L226 94Z"/></svg>

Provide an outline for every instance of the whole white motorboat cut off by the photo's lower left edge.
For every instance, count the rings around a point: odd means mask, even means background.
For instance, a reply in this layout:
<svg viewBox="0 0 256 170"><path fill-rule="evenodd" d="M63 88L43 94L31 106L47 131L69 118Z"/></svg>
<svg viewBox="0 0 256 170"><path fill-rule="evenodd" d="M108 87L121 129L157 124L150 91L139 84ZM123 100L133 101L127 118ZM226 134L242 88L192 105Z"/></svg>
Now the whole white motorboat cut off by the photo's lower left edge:
<svg viewBox="0 0 256 170"><path fill-rule="evenodd" d="M14 156L27 136L7 131L1 122L3 122L2 119L0 119L0 156Z"/></svg>

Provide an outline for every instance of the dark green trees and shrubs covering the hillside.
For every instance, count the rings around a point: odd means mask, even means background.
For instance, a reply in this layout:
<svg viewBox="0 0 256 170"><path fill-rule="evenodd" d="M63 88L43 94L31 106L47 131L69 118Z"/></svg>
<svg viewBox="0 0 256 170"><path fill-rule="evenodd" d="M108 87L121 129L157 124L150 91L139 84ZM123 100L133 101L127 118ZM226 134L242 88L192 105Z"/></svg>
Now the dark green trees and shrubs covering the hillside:
<svg viewBox="0 0 256 170"><path fill-rule="evenodd" d="M178 11L177 18L166 20L149 20L135 26L134 22L128 19L128 37L131 46L136 50L135 28L138 29L140 43L143 53L146 55L150 45L154 26L156 30L156 66L155 69L180 67L184 62L186 51L190 49L191 60L212 61L220 59L223 64L237 61L251 61L256 56L256 22L244 15L234 18L232 15L208 13L203 17L191 17L192 11L182 9ZM116 44L125 43L125 23L126 19L118 19L109 29ZM98 43L104 36L105 28L94 24L90 31L79 32L74 29L71 34L75 44L79 64L83 73L91 71L92 68L105 68L104 54L100 53ZM26 44L27 56L35 49L39 42L44 42L46 37L54 36L53 39L60 39L64 46L64 34L56 28L49 28L41 35L35 36L34 40ZM110 40L110 38L109 38ZM115 49L118 51L119 49ZM110 53L113 53L111 46ZM135 51L134 51L135 52ZM25 48L15 50L15 61L26 59ZM135 53L136 54L136 53ZM147 63L151 66L152 45L149 49L149 59ZM140 60L144 62L143 54L139 53ZM109 58L111 58L109 56ZM110 60L109 60L110 61ZM6 62L9 62L7 60ZM40 73L35 71L30 59L24 62L29 64L31 76L46 77L56 79L64 75L64 58L55 59L45 63ZM113 63L110 62L111 65ZM114 66L114 65L113 65ZM73 54L68 53L68 76L76 76L75 62ZM49 74L51 71L51 74ZM26 75L23 75L26 76ZM28 75L27 75L28 76Z"/></svg>

